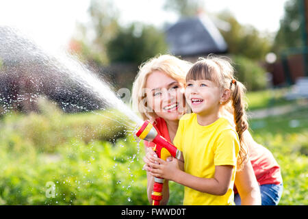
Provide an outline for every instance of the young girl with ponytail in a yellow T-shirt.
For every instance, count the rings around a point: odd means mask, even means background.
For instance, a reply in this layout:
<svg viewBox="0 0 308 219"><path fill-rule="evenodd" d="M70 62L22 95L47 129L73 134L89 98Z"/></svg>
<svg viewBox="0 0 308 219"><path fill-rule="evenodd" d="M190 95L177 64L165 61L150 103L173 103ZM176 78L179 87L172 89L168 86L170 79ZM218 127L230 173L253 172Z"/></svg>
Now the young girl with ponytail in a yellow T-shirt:
<svg viewBox="0 0 308 219"><path fill-rule="evenodd" d="M188 71L185 98L193 113L182 116L173 141L185 163L155 158L149 168L154 177L185 185L184 205L234 205L235 172L247 154L242 144L248 127L243 96L244 86L222 58L201 59ZM235 127L220 113L229 103Z"/></svg>

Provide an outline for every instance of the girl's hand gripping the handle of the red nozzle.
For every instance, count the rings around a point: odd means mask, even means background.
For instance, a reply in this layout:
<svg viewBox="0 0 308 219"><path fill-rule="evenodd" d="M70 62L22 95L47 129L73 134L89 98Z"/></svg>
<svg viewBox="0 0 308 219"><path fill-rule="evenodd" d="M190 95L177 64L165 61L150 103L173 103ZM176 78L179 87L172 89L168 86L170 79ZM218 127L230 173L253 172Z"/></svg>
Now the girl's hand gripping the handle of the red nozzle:
<svg viewBox="0 0 308 219"><path fill-rule="evenodd" d="M168 157L166 161L158 157L153 157L154 163L148 168L153 177L164 178L168 180L175 181L177 173L181 171L178 159Z"/></svg>

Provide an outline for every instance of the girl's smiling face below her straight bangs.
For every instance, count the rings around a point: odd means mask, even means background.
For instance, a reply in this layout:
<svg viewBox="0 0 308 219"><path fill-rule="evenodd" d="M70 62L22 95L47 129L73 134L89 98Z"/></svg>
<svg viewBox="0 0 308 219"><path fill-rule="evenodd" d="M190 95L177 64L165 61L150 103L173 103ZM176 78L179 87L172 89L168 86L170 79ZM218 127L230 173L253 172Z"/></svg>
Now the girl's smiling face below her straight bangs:
<svg viewBox="0 0 308 219"><path fill-rule="evenodd" d="M220 88L213 81L209 80L188 80L185 90L185 98L192 112L200 115L218 112Z"/></svg>

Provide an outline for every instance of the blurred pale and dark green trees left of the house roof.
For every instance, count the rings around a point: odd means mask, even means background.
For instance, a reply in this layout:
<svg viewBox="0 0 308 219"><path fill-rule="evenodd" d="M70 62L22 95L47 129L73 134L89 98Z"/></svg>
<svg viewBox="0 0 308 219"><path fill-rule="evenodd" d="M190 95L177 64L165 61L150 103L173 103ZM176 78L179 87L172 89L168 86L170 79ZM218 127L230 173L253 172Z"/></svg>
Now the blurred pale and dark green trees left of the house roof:
<svg viewBox="0 0 308 219"><path fill-rule="evenodd" d="M91 24L80 25L81 56L99 65L110 62L140 62L157 53L166 53L164 33L152 25L132 23L123 27L110 0L92 0L88 10ZM92 40L89 42L88 38Z"/></svg>

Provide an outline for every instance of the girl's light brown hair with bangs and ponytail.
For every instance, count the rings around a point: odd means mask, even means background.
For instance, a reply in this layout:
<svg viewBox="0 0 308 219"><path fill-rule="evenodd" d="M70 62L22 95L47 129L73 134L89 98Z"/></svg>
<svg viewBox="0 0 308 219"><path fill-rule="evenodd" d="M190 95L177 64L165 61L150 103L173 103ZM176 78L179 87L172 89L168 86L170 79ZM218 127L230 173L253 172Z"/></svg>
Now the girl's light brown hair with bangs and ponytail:
<svg viewBox="0 0 308 219"><path fill-rule="evenodd" d="M227 110L233 114L235 129L241 144L238 166L242 168L248 154L243 136L244 131L248 129L246 101L244 99L246 88L240 81L235 80L231 60L227 57L216 57L214 55L209 55L207 58L201 57L188 71L186 81L190 79L207 79L216 83L218 88L231 91L230 99L222 103L222 110Z"/></svg>

